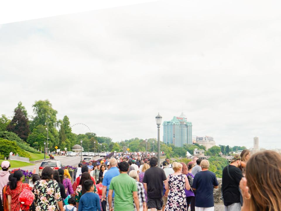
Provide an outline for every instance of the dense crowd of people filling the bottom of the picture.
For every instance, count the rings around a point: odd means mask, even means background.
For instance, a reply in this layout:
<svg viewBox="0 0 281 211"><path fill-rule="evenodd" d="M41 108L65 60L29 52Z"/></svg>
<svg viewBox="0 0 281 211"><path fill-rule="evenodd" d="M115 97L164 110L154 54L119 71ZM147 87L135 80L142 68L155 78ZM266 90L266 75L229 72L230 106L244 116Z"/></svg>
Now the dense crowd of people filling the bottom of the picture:
<svg viewBox="0 0 281 211"><path fill-rule="evenodd" d="M1 163L0 211L213 211L219 187L209 161L157 166L154 156L115 153L110 159L78 164L74 181L67 169L45 167L41 177L23 183L23 173L9 173ZM160 167L160 168L159 168ZM251 155L244 150L222 171L226 211L281 210L281 156L273 151Z"/></svg>

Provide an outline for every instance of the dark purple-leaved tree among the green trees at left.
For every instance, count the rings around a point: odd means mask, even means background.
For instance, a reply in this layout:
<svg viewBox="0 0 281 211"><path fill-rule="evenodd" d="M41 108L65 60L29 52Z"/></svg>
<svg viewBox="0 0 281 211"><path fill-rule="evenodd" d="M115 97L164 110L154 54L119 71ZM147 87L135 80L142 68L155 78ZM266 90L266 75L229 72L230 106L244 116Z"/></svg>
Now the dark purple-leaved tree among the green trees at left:
<svg viewBox="0 0 281 211"><path fill-rule="evenodd" d="M21 102L19 102L18 106L15 108L13 119L7 126L7 130L18 134L21 139L26 141L30 130L27 111Z"/></svg>

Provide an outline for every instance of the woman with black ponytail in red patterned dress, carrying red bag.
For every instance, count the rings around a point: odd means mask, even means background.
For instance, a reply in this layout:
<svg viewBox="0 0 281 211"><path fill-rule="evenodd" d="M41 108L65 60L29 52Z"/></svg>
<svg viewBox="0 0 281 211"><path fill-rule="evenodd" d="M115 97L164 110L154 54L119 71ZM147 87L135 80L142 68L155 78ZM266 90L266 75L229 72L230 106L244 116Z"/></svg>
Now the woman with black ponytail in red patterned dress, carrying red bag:
<svg viewBox="0 0 281 211"><path fill-rule="evenodd" d="M9 186L7 186L6 194L8 195L8 208L9 211L19 211L20 202L18 197L24 188L28 188L28 183L23 183L23 173L21 171L15 171L11 177Z"/></svg>

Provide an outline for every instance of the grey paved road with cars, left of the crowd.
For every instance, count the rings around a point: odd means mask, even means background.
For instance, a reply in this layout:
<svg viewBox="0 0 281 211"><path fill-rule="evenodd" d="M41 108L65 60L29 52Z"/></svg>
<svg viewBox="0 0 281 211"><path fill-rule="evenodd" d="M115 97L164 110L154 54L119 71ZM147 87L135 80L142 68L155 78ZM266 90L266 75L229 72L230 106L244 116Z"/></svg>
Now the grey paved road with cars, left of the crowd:
<svg viewBox="0 0 281 211"><path fill-rule="evenodd" d="M83 158L83 156L82 156ZM80 163L80 159L81 157L80 156L54 156L54 160L59 160L61 161L61 164L64 165L64 166L78 166L78 164ZM98 159L101 159L100 156L95 156L95 157L92 157L93 160L98 160ZM33 171L34 168L36 168L36 173L39 172L39 166L41 165L41 162L38 163L38 164L35 164L35 165L32 165L32 166L24 166L24 167L20 167L20 169L23 169L23 170L28 170L28 171ZM13 168L13 166L11 166L11 168L9 170L12 170L12 169L18 169L18 168Z"/></svg>

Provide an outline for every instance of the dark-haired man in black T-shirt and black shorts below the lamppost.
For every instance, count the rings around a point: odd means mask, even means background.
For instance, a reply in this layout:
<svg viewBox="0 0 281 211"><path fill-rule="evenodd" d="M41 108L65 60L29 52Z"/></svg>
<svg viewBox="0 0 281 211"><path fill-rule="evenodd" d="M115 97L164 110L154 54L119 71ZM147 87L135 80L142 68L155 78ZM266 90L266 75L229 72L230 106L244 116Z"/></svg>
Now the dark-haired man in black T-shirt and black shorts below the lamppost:
<svg viewBox="0 0 281 211"><path fill-rule="evenodd" d="M163 206L163 181L167 178L163 169L157 167L158 160L156 157L150 159L150 168L147 169L143 176L143 185L147 193L147 206L151 211L162 210Z"/></svg>

